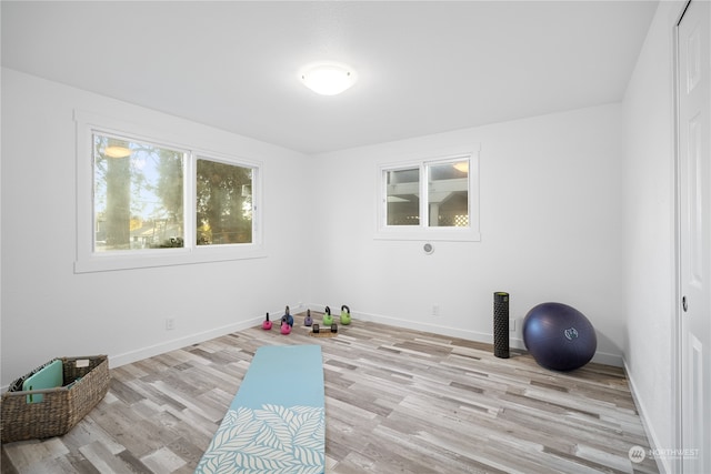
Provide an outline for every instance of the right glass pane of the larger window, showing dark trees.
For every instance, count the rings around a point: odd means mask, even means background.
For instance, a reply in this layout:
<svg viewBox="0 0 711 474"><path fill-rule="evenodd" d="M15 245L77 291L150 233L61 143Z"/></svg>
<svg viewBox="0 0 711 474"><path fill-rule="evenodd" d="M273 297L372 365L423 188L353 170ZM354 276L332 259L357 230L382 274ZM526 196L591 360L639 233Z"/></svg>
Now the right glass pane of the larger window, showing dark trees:
<svg viewBox="0 0 711 474"><path fill-rule="evenodd" d="M252 168L198 159L198 245L252 242Z"/></svg>

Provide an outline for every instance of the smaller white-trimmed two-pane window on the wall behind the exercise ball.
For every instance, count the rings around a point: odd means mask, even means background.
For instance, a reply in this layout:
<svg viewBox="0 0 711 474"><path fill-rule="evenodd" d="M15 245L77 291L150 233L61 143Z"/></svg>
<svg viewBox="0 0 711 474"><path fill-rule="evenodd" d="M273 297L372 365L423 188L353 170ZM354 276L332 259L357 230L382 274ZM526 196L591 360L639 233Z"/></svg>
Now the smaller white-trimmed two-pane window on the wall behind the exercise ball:
<svg viewBox="0 0 711 474"><path fill-rule="evenodd" d="M478 152L381 164L379 180L379 238L480 239Z"/></svg>

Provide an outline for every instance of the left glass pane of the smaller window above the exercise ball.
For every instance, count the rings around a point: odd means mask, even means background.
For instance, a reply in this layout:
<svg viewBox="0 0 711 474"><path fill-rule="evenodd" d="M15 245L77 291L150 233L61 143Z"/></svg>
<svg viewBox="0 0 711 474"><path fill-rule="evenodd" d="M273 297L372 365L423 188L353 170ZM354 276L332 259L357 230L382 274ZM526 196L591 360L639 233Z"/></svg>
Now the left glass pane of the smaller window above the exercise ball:
<svg viewBox="0 0 711 474"><path fill-rule="evenodd" d="M387 225L420 224L420 169L385 171Z"/></svg>

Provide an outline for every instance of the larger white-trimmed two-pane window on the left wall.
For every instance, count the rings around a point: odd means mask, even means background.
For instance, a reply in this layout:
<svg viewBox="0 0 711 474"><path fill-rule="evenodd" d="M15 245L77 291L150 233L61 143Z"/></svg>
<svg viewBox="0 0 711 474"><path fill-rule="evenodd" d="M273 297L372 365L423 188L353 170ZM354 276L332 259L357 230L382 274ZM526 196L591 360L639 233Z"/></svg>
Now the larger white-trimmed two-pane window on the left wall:
<svg viewBox="0 0 711 474"><path fill-rule="evenodd" d="M77 121L77 272L263 256L259 162Z"/></svg>

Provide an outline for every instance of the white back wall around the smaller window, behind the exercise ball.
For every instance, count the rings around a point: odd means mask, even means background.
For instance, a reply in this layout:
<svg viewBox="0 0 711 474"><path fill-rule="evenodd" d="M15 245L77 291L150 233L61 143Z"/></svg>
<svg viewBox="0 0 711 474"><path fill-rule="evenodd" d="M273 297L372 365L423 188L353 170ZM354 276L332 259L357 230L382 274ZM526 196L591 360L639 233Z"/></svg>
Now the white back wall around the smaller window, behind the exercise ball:
<svg viewBox="0 0 711 474"><path fill-rule="evenodd" d="M525 313L559 301L595 326L595 360L621 364L621 117L611 104L314 157L310 301L491 342L493 292L507 291L519 345ZM373 239L379 163L471 143L481 242L434 242L425 255L422 242Z"/></svg>

